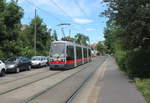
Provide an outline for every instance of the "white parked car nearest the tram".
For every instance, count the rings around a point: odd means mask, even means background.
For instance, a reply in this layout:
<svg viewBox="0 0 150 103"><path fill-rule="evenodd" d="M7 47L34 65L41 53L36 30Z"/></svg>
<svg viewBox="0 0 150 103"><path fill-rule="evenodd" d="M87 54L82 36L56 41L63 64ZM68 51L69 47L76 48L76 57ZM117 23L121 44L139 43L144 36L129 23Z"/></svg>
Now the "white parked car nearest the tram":
<svg viewBox="0 0 150 103"><path fill-rule="evenodd" d="M47 66L47 58L45 56L34 56L31 58L32 67Z"/></svg>

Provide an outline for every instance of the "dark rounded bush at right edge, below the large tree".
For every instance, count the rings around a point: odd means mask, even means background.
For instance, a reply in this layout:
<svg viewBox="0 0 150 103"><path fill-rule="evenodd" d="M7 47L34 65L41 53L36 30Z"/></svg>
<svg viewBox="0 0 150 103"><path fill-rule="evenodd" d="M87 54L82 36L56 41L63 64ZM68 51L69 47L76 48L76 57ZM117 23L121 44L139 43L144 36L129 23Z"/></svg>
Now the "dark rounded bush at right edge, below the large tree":
<svg viewBox="0 0 150 103"><path fill-rule="evenodd" d="M130 77L150 77L150 49L130 52L125 66Z"/></svg>

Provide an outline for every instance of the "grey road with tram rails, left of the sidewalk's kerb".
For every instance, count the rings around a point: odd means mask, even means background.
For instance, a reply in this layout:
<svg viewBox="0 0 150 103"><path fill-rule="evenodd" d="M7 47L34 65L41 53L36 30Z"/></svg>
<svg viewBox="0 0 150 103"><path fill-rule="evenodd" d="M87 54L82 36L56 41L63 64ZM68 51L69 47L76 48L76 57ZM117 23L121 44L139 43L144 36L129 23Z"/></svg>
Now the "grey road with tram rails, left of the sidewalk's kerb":
<svg viewBox="0 0 150 103"><path fill-rule="evenodd" d="M67 71L42 68L0 78L0 102L67 103L106 58Z"/></svg>

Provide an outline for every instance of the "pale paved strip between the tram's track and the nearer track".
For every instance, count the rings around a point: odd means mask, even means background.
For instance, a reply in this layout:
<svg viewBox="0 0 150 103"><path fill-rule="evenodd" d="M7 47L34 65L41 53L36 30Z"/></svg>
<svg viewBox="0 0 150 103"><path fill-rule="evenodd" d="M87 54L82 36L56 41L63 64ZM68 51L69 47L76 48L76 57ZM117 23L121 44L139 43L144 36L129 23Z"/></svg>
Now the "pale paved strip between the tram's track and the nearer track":
<svg viewBox="0 0 150 103"><path fill-rule="evenodd" d="M45 91L47 89L45 85L47 85L47 87L49 85L51 85L51 87L54 85L57 85L58 83L65 81L65 80L62 81L61 78L65 78L65 79L69 78L71 77L70 76L71 74L80 72L81 70L83 70L83 68L86 69L88 66L89 66L89 63L83 66L79 66L76 69L61 71L59 75L53 75L52 77L46 78L45 80L41 80L41 81L29 84L24 87L16 88L15 90L8 91L7 93L0 95L0 100L3 101L4 103L20 103L22 101L24 103L24 100L28 100L29 98L41 93L41 91L42 92ZM54 81L54 83L51 83L52 81ZM37 88L39 87L40 87L40 90L37 91Z"/></svg>

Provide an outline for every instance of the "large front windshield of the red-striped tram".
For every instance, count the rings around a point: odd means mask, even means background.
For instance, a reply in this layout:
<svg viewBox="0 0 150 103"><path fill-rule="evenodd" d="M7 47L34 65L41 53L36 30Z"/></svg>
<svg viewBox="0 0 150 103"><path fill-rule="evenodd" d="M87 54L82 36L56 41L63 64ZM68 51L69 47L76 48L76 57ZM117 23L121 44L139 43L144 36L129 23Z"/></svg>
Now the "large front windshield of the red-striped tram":
<svg viewBox="0 0 150 103"><path fill-rule="evenodd" d="M55 43L51 47L51 57L65 57L65 44Z"/></svg>

